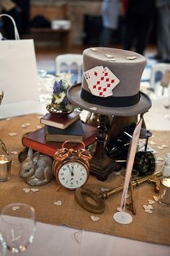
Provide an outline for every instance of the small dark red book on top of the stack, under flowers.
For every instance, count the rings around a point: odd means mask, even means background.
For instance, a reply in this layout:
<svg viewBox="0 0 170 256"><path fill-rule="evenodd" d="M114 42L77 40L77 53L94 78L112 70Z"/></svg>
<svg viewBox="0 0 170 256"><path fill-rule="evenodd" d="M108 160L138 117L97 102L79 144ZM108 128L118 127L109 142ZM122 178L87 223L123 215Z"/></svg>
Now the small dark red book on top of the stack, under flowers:
<svg viewBox="0 0 170 256"><path fill-rule="evenodd" d="M50 127L66 129L66 127L73 124L74 121L80 118L78 111L73 111L71 114L66 116L54 116L50 113L41 117L40 123L49 125Z"/></svg>

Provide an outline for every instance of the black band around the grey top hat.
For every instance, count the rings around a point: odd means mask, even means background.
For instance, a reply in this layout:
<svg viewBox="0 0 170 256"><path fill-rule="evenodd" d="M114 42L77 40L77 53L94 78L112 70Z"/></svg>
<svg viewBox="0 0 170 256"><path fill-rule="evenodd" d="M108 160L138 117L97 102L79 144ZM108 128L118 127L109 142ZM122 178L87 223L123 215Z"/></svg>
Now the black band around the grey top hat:
<svg viewBox="0 0 170 256"><path fill-rule="evenodd" d="M109 97L102 98L96 95L92 95L91 93L81 88L80 97L84 101L87 101L92 104L97 104L100 106L111 107L111 108L125 108L128 106L133 106L139 102L140 92L130 96L122 96L122 97L109 96Z"/></svg>

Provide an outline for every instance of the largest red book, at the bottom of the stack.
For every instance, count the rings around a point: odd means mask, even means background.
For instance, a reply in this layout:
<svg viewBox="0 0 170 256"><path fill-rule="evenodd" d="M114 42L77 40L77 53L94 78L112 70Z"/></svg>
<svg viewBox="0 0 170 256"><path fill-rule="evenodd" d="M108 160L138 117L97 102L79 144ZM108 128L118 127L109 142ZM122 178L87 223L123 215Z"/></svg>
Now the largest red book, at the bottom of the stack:
<svg viewBox="0 0 170 256"><path fill-rule="evenodd" d="M97 127L93 127L89 124L82 124L82 127L84 129L84 144L87 147L96 141ZM22 137L22 145L27 148L31 147L32 150L53 157L55 152L59 148L62 148L63 142L47 142L45 140L45 127L42 127L35 132L24 135ZM69 142L66 144L66 147L78 150L82 148L82 144Z"/></svg>

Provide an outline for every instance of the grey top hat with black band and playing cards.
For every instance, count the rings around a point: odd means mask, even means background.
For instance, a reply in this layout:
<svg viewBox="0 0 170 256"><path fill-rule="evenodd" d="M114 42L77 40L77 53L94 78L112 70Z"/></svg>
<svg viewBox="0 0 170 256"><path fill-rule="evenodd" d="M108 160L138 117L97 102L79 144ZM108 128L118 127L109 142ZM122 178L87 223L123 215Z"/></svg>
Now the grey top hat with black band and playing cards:
<svg viewBox="0 0 170 256"><path fill-rule="evenodd" d="M83 53L82 83L69 88L68 100L97 114L135 116L145 113L151 108L151 99L140 92L145 65L146 58L132 51L87 48ZM97 74L98 71L99 80L95 80L94 72ZM105 71L109 71L109 74ZM105 74L109 75L107 80ZM110 87L110 83L113 86Z"/></svg>

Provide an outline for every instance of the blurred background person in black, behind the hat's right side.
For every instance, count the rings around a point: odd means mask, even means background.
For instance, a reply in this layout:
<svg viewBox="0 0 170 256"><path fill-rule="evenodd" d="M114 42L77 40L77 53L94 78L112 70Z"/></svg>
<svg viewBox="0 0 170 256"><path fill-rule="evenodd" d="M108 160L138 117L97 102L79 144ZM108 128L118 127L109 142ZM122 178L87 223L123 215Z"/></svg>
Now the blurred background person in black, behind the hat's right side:
<svg viewBox="0 0 170 256"><path fill-rule="evenodd" d="M130 51L134 46L134 51L143 55L155 12L155 0L128 0L125 4L123 48Z"/></svg>

